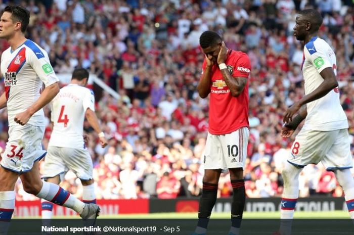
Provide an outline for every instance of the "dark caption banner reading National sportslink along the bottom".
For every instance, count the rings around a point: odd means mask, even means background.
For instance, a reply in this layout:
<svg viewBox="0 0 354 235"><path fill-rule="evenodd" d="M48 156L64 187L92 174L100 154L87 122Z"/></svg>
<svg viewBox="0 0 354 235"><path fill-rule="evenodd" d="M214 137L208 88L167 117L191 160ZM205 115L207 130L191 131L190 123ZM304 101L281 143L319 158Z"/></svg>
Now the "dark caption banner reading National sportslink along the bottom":
<svg viewBox="0 0 354 235"><path fill-rule="evenodd" d="M354 234L354 220L350 219L293 219L292 235ZM240 235L271 235L278 230L280 219L243 219ZM196 219L12 219L8 235L66 235L66 234L175 234L190 235ZM226 235L230 219L210 219L207 235ZM4 228L4 222L0 222ZM0 231L0 234L6 234Z"/></svg>

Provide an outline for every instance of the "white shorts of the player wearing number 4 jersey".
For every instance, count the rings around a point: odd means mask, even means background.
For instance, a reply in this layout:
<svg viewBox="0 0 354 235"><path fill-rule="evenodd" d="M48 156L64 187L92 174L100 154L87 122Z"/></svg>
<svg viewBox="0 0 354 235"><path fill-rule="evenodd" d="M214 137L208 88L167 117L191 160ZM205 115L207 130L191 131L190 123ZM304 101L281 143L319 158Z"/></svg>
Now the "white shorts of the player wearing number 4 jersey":
<svg viewBox="0 0 354 235"><path fill-rule="evenodd" d="M79 179L93 179L93 164L89 151L63 147L48 147L42 178L59 175L60 180L72 170Z"/></svg>

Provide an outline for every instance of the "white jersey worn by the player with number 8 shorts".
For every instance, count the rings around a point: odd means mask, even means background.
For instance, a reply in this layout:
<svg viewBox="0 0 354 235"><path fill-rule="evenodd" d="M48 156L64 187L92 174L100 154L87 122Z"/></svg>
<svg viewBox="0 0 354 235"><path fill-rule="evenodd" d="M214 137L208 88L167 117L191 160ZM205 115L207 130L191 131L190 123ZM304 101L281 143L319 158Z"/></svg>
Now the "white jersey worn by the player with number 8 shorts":
<svg viewBox="0 0 354 235"><path fill-rule="evenodd" d="M307 95L324 81L320 75L322 70L330 67L337 75L337 63L331 46L318 37L305 44L303 55L302 74ZM303 128L319 131L348 128L348 121L339 101L338 87L321 99L307 103L307 116Z"/></svg>

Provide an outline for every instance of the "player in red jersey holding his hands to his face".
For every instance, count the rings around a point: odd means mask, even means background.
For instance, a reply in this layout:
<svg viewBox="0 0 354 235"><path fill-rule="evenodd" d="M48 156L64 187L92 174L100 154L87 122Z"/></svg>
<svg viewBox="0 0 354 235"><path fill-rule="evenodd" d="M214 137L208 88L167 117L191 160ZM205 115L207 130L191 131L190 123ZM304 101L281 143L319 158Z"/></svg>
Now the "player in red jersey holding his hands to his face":
<svg viewBox="0 0 354 235"><path fill-rule="evenodd" d="M233 187L229 234L239 235L245 205L243 168L249 137L250 61L245 53L227 49L220 35L215 32L203 32L199 42L205 59L197 89L201 98L206 98L210 93L210 108L209 132L202 155L205 169L203 191L195 234L206 233L216 201L220 173L228 168Z"/></svg>

